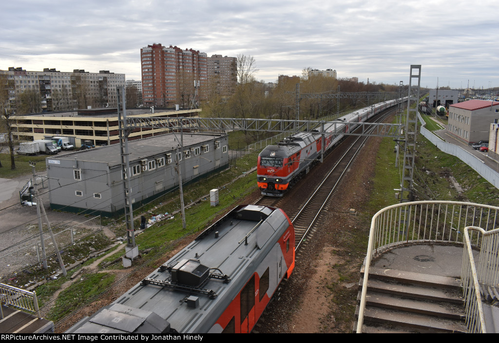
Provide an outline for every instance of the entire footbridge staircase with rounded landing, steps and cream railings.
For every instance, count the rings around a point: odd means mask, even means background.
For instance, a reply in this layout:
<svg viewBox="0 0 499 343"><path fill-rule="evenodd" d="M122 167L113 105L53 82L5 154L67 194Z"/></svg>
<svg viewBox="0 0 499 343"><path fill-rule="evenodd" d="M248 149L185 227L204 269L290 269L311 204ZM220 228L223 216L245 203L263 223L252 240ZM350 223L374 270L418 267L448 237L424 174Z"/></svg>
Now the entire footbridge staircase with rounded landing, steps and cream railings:
<svg viewBox="0 0 499 343"><path fill-rule="evenodd" d="M354 331L499 332L498 214L499 207L451 201L376 213Z"/></svg>

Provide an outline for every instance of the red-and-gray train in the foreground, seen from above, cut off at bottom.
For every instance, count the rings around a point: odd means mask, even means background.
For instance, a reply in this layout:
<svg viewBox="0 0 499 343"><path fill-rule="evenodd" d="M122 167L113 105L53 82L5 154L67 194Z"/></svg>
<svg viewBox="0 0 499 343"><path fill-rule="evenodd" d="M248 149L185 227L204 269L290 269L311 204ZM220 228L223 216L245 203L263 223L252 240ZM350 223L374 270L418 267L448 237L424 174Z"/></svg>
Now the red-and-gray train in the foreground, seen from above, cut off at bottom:
<svg viewBox="0 0 499 343"><path fill-rule="evenodd" d="M287 215L240 205L67 333L249 333L293 268Z"/></svg>

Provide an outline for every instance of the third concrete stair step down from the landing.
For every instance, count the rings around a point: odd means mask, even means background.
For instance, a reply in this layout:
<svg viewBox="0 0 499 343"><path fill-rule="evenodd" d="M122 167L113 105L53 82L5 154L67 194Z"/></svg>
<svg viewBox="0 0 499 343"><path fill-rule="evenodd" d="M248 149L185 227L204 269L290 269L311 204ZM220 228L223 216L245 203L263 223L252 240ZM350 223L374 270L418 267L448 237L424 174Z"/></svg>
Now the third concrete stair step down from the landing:
<svg viewBox="0 0 499 343"><path fill-rule="evenodd" d="M459 306L452 306L450 304L443 306L425 301L390 297L384 294L368 294L366 303L369 306L420 313L441 318L460 320L465 317L463 313L464 309Z"/></svg>

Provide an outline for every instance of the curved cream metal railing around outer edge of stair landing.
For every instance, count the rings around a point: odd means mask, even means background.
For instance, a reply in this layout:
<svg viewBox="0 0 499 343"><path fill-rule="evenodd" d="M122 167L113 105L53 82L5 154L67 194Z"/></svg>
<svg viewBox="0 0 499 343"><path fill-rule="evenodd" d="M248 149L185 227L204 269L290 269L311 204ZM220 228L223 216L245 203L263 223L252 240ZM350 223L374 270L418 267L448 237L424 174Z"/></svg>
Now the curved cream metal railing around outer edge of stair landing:
<svg viewBox="0 0 499 343"><path fill-rule="evenodd" d="M499 226L499 207L459 201L413 201L378 211L371 220L356 332L362 333L367 279L374 258L405 244L464 243L467 226L492 232ZM470 244L479 246L482 233L473 233Z"/></svg>

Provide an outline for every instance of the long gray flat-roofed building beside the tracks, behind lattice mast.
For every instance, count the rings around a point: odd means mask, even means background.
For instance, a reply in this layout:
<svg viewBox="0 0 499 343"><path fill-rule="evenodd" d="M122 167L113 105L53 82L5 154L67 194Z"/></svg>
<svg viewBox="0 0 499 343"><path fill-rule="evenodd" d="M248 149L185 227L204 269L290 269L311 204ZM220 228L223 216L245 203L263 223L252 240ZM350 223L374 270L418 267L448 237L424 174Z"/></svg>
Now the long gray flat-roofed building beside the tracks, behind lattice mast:
<svg viewBox="0 0 499 343"><path fill-rule="evenodd" d="M221 171L229 165L228 136L180 133L128 143L132 203L140 205L179 185L180 161L183 182ZM50 207L68 212L116 215L124 210L125 196L118 144L46 159Z"/></svg>

